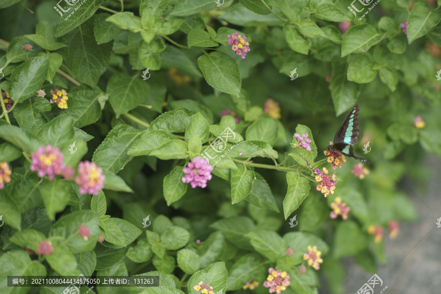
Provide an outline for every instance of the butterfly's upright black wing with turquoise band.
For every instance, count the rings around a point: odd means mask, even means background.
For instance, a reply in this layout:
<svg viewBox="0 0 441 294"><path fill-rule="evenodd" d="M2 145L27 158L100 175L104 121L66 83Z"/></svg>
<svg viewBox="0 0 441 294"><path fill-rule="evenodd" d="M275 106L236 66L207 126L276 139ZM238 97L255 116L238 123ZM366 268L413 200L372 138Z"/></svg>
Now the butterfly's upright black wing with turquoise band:
<svg viewBox="0 0 441 294"><path fill-rule="evenodd" d="M351 147L357 144L358 137L360 137L360 128L358 124L359 112L359 104L355 105L351 111L349 111L335 134L334 144L343 143L344 145L350 145ZM336 148L338 147L336 146Z"/></svg>

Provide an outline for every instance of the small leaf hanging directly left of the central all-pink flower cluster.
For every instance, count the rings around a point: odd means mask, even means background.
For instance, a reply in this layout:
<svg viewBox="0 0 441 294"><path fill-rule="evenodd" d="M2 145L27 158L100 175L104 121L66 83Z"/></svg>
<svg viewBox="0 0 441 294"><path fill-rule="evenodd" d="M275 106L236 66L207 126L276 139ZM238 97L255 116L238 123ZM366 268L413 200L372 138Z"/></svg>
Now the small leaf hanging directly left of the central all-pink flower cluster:
<svg viewBox="0 0 441 294"><path fill-rule="evenodd" d="M172 172L164 177L164 198L166 199L168 206L182 198L187 192L188 184L183 183L181 180L185 175L184 172L182 172L183 169L184 167L177 166Z"/></svg>

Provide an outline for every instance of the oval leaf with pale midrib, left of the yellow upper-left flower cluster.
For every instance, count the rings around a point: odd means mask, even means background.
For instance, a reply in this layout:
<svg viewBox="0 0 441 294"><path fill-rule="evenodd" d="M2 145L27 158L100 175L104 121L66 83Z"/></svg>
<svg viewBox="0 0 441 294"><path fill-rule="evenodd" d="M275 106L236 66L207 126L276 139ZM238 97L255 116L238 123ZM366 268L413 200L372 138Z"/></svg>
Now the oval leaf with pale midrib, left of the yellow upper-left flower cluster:
<svg viewBox="0 0 441 294"><path fill-rule="evenodd" d="M49 70L47 54L29 58L19 65L11 75L11 90L9 95L15 102L22 102L36 95L41 89Z"/></svg>

